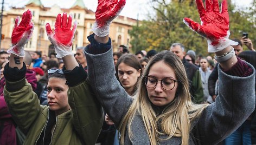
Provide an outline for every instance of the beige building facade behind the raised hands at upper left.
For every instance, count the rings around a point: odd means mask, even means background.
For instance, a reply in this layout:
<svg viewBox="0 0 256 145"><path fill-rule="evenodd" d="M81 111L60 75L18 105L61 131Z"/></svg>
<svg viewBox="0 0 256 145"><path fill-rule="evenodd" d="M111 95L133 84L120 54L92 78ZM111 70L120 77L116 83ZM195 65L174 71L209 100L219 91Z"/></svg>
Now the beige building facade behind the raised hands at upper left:
<svg viewBox="0 0 256 145"><path fill-rule="evenodd" d="M50 42L47 38L45 25L49 23L54 29L55 19L57 14L66 12L68 15L73 15L73 20L78 22L78 27L75 32L72 50L75 52L76 47L86 46L89 42L87 36L92 34L92 25L95 21L95 13L88 10L82 0L76 0L70 9L61 9L58 5L53 5L51 8L46 8L40 0L30 0L23 8L12 8L3 12L2 34L5 38L2 39L1 49L8 50L11 47L11 32L14 27L15 18L22 16L23 12L29 9L33 14L32 21L35 24L33 36L25 45L25 50L42 51L42 54L48 55L53 52L53 48L49 48ZM128 32L133 25L137 24L136 19L118 16L110 25L110 37L114 51L117 51L119 45L131 47Z"/></svg>

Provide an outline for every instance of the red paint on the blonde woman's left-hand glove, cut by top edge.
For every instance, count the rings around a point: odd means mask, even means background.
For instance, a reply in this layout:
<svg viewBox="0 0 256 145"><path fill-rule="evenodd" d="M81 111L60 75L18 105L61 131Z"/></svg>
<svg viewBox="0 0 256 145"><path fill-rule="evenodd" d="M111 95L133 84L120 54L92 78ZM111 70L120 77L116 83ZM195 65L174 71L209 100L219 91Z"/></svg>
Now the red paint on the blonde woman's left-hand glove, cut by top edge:
<svg viewBox="0 0 256 145"><path fill-rule="evenodd" d="M125 3L125 0L99 0L95 12L98 27L101 28L107 22L111 22L119 14L120 10L124 8Z"/></svg>

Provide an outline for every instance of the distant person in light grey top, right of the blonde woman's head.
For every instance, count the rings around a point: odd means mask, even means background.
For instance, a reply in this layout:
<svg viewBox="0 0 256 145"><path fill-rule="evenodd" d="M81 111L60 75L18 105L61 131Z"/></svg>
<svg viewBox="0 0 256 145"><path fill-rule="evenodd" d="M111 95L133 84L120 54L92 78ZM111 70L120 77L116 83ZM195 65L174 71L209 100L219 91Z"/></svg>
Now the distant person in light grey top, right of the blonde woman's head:
<svg viewBox="0 0 256 145"><path fill-rule="evenodd" d="M212 96L210 96L209 90L208 90L208 78L210 73L212 73L212 71L210 71L209 62L205 57L201 58L200 60L199 72L201 74L201 80L202 80L202 87L203 87L203 94L204 94L203 100L208 103L213 103L213 98Z"/></svg>

